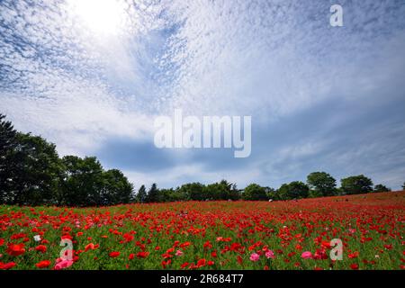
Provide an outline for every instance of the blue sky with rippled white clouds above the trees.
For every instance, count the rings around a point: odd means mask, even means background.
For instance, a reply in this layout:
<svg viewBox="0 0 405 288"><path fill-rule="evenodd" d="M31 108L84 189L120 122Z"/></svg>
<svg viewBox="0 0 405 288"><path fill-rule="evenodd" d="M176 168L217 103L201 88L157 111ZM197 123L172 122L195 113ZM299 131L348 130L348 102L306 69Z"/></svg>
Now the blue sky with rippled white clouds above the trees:
<svg viewBox="0 0 405 288"><path fill-rule="evenodd" d="M399 189L404 15L403 0L0 0L0 112L136 187L327 171ZM175 108L252 116L250 157L156 148L153 121Z"/></svg>

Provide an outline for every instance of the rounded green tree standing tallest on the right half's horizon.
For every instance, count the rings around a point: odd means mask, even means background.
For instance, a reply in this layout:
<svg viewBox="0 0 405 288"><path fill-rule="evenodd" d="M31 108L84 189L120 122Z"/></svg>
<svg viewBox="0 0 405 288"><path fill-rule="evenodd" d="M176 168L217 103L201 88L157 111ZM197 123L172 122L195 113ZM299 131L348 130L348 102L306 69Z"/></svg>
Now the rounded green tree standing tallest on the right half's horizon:
<svg viewBox="0 0 405 288"><path fill-rule="evenodd" d="M311 196L332 196L336 193L336 179L326 172L312 172L307 176Z"/></svg>

